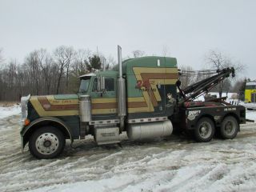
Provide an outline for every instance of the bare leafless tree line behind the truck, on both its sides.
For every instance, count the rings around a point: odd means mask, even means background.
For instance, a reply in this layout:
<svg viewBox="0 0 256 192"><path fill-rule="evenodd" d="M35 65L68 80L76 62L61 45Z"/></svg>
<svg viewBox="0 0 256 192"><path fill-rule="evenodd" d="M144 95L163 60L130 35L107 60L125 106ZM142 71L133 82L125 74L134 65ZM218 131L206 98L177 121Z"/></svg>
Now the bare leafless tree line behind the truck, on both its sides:
<svg viewBox="0 0 256 192"><path fill-rule="evenodd" d="M131 57L138 58L145 55L142 50L134 50ZM102 54L93 54L91 50L74 50L72 46L58 46L52 52L38 49L26 55L22 63L16 60L5 62L0 50L0 101L18 101L21 96L44 94L72 94L79 86L78 77L90 73L91 70L106 70L116 65L111 56L106 58ZM231 61L230 58L218 50L211 50L206 54L208 69L219 70L233 66L236 73L241 73L245 66ZM210 74L194 74L191 66L179 66L183 71L180 80L182 87L210 77ZM236 82L231 82L236 81ZM245 89L246 80L226 78L214 92L221 97L227 92L241 93Z"/></svg>

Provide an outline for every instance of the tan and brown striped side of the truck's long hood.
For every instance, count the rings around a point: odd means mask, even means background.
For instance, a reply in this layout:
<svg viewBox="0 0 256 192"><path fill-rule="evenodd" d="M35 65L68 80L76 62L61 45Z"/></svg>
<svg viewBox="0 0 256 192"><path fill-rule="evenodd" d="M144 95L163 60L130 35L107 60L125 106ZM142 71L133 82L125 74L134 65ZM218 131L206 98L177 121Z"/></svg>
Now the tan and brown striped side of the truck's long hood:
<svg viewBox="0 0 256 192"><path fill-rule="evenodd" d="M78 115L78 94L31 96L30 102L40 117Z"/></svg>

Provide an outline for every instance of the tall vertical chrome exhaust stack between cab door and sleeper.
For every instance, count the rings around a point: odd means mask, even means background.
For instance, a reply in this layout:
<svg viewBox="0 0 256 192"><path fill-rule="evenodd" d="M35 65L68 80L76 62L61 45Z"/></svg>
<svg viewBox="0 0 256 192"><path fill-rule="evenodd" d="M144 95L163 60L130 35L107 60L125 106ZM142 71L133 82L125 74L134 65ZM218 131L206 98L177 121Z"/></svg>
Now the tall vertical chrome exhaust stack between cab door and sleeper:
<svg viewBox="0 0 256 192"><path fill-rule="evenodd" d="M120 132L124 128L124 118L126 116L126 81L122 78L122 48L118 46L118 65L119 65L119 77L118 77L118 116L120 118Z"/></svg>

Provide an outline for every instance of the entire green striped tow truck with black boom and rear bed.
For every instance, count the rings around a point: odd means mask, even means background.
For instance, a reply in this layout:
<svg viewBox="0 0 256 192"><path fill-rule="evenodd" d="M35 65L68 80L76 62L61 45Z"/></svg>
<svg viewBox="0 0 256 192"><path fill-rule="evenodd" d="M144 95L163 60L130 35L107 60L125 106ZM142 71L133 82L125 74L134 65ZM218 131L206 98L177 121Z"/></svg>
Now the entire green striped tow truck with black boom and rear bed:
<svg viewBox="0 0 256 192"><path fill-rule="evenodd" d="M210 142L215 133L235 138L246 122L243 106L223 98L194 101L198 95L234 76L233 68L217 70L200 82L181 88L176 58L142 57L118 66L80 76L77 94L22 97L22 151L28 143L36 158L55 158L66 139L94 136L98 145L120 143L126 132L130 140L167 137L173 130L186 131L198 142Z"/></svg>

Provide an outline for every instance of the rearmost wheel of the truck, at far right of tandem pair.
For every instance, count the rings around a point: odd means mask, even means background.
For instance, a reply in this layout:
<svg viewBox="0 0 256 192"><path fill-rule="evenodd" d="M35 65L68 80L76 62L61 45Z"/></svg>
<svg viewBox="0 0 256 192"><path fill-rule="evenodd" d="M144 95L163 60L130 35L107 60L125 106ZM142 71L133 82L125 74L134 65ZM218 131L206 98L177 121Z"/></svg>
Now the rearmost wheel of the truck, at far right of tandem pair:
<svg viewBox="0 0 256 192"><path fill-rule="evenodd" d="M220 134L224 139L235 138L238 134L238 121L233 116L227 116L222 121Z"/></svg>

